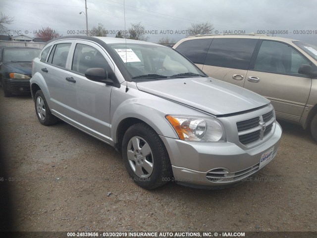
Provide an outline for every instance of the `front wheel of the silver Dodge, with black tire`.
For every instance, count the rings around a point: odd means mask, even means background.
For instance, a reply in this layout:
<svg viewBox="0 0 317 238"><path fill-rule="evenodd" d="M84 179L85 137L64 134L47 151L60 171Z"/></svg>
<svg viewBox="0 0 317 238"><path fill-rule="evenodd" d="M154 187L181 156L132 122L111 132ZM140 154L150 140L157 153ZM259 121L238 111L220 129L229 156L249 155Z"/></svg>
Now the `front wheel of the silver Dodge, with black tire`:
<svg viewBox="0 0 317 238"><path fill-rule="evenodd" d="M137 123L127 129L122 141L122 157L130 177L143 188L157 188L172 176L162 140L145 123Z"/></svg>

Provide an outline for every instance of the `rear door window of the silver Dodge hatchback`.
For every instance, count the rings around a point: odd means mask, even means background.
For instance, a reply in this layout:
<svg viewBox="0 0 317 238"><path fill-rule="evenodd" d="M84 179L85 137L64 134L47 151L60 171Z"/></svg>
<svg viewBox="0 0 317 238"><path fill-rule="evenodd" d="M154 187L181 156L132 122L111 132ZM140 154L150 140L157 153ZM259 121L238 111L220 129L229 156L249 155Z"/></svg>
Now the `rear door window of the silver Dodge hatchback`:
<svg viewBox="0 0 317 238"><path fill-rule="evenodd" d="M54 46L48 62L53 63L60 67L66 67L66 60L71 43L61 43Z"/></svg>

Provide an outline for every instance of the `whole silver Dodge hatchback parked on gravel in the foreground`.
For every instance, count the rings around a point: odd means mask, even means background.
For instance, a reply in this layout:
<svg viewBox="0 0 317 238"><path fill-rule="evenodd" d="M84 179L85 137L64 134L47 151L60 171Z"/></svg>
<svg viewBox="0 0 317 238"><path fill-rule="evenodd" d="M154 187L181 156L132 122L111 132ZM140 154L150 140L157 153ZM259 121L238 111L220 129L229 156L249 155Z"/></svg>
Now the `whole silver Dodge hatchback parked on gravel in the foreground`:
<svg viewBox="0 0 317 238"><path fill-rule="evenodd" d="M108 37L47 43L30 80L39 121L58 119L121 151L138 185L237 184L276 155L270 102L208 77L171 48Z"/></svg>

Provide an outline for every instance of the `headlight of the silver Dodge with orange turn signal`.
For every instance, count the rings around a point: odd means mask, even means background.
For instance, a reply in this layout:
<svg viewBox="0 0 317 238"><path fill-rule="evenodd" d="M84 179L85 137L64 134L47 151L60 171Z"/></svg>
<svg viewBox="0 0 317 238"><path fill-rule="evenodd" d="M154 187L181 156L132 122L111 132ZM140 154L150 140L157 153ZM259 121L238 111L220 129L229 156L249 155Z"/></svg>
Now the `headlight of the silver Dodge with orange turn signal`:
<svg viewBox="0 0 317 238"><path fill-rule="evenodd" d="M166 115L181 140L224 141L224 129L212 118L195 118Z"/></svg>

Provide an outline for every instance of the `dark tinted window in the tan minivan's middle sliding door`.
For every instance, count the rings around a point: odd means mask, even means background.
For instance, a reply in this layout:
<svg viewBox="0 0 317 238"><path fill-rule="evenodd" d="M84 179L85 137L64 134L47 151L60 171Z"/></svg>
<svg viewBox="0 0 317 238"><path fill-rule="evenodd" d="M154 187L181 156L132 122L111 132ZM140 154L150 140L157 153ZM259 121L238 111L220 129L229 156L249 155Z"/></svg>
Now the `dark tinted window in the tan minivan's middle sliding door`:
<svg viewBox="0 0 317 238"><path fill-rule="evenodd" d="M213 39L205 64L247 70L258 39Z"/></svg>

